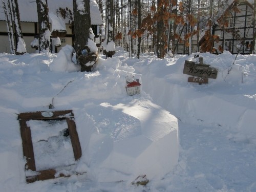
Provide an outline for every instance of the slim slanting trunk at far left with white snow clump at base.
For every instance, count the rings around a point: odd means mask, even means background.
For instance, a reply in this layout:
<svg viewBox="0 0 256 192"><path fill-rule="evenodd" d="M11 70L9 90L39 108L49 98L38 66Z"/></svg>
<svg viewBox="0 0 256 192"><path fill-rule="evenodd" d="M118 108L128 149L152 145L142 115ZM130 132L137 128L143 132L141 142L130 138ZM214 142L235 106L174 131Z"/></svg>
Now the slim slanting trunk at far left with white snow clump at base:
<svg viewBox="0 0 256 192"><path fill-rule="evenodd" d="M22 35L22 28L20 27L19 10L17 0L12 0L15 38L16 38L16 55L22 55L27 52L26 44Z"/></svg>

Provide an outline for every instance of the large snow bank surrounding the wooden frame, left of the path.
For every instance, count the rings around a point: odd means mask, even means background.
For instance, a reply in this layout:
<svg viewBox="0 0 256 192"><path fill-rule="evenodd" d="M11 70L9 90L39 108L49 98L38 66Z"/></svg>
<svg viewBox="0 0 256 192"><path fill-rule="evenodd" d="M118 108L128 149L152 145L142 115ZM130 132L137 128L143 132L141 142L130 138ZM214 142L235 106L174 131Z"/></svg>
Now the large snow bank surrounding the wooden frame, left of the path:
<svg viewBox="0 0 256 192"><path fill-rule="evenodd" d="M87 172L90 180L129 183L140 175L161 179L171 172L178 162L177 119L154 104L143 90L140 95L127 95L125 76L141 81L141 75L117 57L99 59L95 72L74 73L78 68L71 61L72 52L73 48L66 46L56 55L0 55L0 118L8 127L0 131L1 173L10 172L0 174L3 188L32 191L30 186L39 187L40 182L25 186L17 117L22 112L51 111L50 104L56 111L73 110L82 156L74 162L70 142L59 140L62 123L54 131L46 125L42 132L40 122L28 121L37 168L75 163L69 171ZM47 187L42 191L48 191Z"/></svg>

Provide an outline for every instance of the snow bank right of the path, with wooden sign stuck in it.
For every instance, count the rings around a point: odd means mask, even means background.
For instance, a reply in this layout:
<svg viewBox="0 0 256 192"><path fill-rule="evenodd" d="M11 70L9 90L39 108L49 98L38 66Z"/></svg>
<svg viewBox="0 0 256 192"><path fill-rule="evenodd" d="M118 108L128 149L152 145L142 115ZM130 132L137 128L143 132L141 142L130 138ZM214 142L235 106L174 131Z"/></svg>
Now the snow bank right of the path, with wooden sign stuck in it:
<svg viewBox="0 0 256 192"><path fill-rule="evenodd" d="M256 143L252 125L256 112L253 92L256 55L238 55L235 62L236 55L229 52L218 56L200 53L200 56L204 63L218 69L217 79L209 79L208 84L187 82L189 75L183 74L185 60L197 61L194 55L178 55L163 61L147 59L142 64L136 63L134 68L143 73L142 82L151 82L144 83L144 91L182 122L227 127L237 130L233 137Z"/></svg>

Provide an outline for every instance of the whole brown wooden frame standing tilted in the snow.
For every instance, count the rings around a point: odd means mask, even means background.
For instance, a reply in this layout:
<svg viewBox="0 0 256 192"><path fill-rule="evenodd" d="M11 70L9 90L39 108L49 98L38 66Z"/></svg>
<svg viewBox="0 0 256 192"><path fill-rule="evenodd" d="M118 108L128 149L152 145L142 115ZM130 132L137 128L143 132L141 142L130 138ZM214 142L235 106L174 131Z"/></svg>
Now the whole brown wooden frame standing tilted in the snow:
<svg viewBox="0 0 256 192"><path fill-rule="evenodd" d="M23 154L26 160L25 170L30 173L32 172L32 174L30 174L29 176L26 176L27 183L31 183L38 180L47 180L47 179L53 179L57 177L70 176L70 175L64 175L62 173L57 174L56 169L36 170L31 130L30 130L30 127L27 125L27 121L29 120L61 120L61 119L63 120L66 119L67 121L70 140L71 140L71 144L74 152L74 158L75 160L78 160L81 157L82 153L81 153L81 146L80 146L78 134L76 131L74 114L72 110L42 111L42 112L38 111L38 112L29 112L29 113L19 114L18 120L20 125L20 135L22 136Z"/></svg>

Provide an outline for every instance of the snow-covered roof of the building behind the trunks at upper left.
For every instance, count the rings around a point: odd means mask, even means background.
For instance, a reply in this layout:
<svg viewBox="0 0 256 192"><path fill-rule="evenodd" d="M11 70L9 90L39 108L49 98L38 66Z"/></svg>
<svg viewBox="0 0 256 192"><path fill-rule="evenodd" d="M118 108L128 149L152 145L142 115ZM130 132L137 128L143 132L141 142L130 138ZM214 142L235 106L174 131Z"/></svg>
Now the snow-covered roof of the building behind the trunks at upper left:
<svg viewBox="0 0 256 192"><path fill-rule="evenodd" d="M38 22L36 2L31 0L18 0L19 14L21 22ZM61 8L69 8L73 11L72 0L48 0L49 13L56 14L56 10ZM92 25L102 25L102 19L99 12L98 4L95 0L90 0L91 7L91 23ZM5 20L3 10L3 2L0 1L0 20ZM51 20L50 20L51 22ZM68 23L68 19L65 20Z"/></svg>

